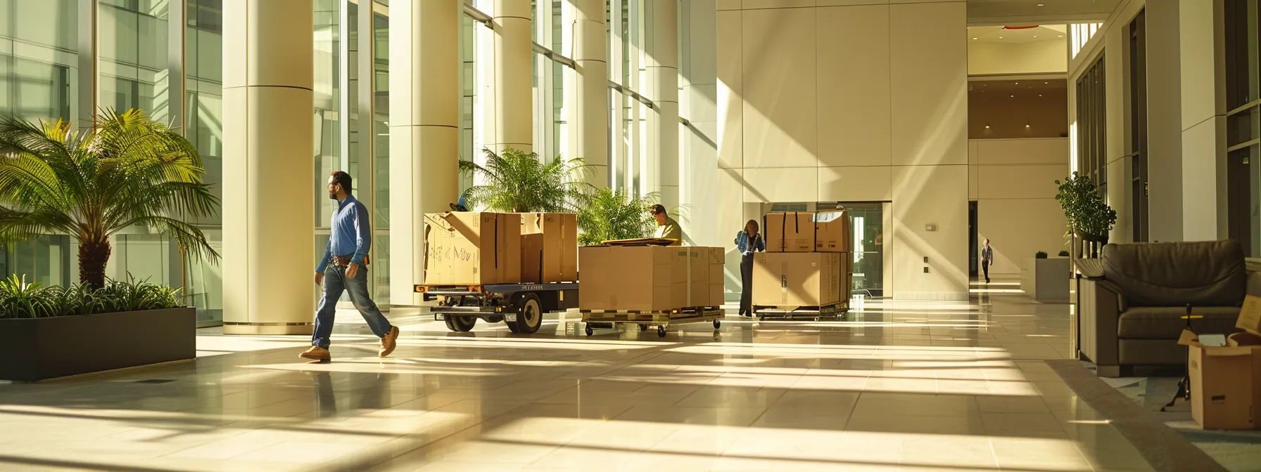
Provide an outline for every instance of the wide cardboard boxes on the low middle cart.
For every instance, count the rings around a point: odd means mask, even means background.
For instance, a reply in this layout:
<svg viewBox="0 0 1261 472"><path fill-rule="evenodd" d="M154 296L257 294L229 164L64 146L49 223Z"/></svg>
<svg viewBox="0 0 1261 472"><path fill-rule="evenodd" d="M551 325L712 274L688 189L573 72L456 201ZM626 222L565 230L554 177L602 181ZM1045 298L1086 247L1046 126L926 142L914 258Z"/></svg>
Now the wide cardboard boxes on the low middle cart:
<svg viewBox="0 0 1261 472"><path fill-rule="evenodd" d="M671 311L723 305L723 248L593 245L579 252L581 310Z"/></svg>

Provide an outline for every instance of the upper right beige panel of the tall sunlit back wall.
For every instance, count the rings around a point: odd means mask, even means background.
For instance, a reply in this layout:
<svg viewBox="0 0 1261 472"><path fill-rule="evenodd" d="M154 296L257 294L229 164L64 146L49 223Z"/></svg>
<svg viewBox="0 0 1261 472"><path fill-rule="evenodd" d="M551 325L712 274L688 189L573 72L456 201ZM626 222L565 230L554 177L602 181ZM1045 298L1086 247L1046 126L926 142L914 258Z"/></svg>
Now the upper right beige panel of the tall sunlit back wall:
<svg viewBox="0 0 1261 472"><path fill-rule="evenodd" d="M892 5L889 24L893 164L966 164L966 5Z"/></svg>

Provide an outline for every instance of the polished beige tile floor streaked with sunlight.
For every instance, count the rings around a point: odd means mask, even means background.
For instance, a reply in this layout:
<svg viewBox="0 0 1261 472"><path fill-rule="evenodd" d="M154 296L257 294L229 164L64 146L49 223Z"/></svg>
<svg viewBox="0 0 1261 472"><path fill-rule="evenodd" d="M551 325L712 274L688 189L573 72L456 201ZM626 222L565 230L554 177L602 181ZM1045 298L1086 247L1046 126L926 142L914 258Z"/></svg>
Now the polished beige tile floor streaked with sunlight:
<svg viewBox="0 0 1261 472"><path fill-rule="evenodd" d="M396 312L383 360L349 312L330 364L203 330L195 362L0 384L0 471L1149 471L1042 362L1069 308L997 287L665 339Z"/></svg>

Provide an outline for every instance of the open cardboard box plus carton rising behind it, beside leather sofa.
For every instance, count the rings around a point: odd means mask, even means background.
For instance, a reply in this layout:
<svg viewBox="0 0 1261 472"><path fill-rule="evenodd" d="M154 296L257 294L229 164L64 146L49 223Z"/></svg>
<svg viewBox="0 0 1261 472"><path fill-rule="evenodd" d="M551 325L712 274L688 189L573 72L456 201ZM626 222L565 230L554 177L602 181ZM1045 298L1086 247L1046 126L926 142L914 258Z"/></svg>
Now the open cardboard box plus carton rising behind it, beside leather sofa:
<svg viewBox="0 0 1261 472"><path fill-rule="evenodd" d="M1229 336L1183 331L1192 418L1204 429L1261 429L1261 297L1247 296Z"/></svg>

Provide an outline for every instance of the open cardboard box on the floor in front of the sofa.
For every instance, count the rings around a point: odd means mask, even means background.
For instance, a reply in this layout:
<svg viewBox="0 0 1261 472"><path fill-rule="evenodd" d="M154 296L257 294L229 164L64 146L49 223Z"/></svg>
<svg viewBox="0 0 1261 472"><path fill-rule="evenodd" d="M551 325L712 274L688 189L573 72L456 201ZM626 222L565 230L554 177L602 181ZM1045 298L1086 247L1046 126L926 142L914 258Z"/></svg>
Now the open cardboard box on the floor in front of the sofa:
<svg viewBox="0 0 1261 472"><path fill-rule="evenodd" d="M1204 429L1256 429L1261 425L1261 346L1204 346L1184 330L1188 347L1192 418Z"/></svg>

